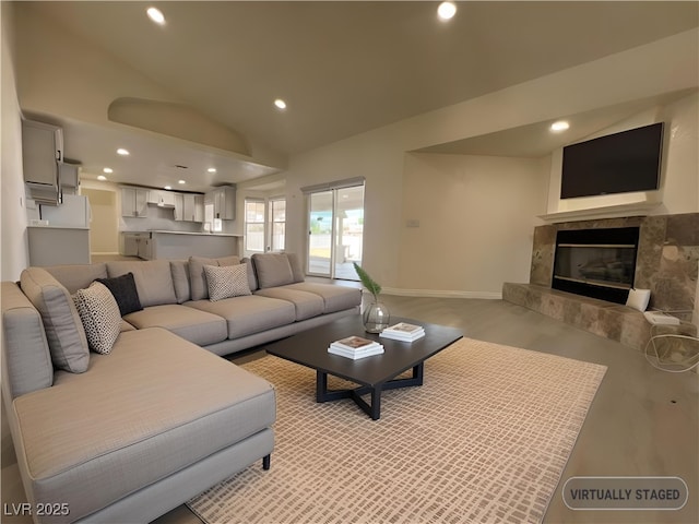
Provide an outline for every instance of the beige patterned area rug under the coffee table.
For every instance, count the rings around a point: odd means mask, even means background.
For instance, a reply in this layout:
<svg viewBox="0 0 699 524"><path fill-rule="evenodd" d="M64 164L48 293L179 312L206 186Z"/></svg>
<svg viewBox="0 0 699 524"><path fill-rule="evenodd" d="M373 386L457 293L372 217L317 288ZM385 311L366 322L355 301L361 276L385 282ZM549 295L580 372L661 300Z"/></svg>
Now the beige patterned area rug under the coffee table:
<svg viewBox="0 0 699 524"><path fill-rule="evenodd" d="M541 522L606 371L464 338L425 362L423 386L383 392L374 421L351 400L317 404L311 369L244 368L276 386L272 467L191 500L210 524Z"/></svg>

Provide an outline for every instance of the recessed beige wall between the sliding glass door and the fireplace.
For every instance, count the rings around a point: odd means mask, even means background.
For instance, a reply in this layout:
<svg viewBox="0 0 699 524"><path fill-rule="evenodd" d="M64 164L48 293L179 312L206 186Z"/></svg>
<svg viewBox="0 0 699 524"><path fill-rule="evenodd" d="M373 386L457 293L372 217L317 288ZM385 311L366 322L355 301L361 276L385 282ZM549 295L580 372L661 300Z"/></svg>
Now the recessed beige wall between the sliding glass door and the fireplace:
<svg viewBox="0 0 699 524"><path fill-rule="evenodd" d="M398 287L500 298L502 282L526 282L548 164L548 157L406 155Z"/></svg>

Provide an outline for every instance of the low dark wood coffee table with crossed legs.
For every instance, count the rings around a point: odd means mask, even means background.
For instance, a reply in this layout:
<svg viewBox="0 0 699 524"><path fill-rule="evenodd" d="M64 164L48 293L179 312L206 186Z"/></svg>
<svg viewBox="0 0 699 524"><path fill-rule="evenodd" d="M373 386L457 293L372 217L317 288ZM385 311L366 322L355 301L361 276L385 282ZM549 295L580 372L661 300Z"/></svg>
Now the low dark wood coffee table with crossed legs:
<svg viewBox="0 0 699 524"><path fill-rule="evenodd" d="M269 344L265 349L270 355L316 370L316 402L352 398L367 415L378 420L381 417L382 391L423 385L425 360L463 337L454 327L391 318L391 324L398 322L422 325L425 327L425 336L412 343L381 338L364 331L360 315L352 315ZM330 343L352 335L378 341L383 345L383 354L352 360L328 353ZM395 378L411 368L412 377ZM350 380L359 386L328 390L329 374ZM371 404L362 398L367 393L371 394Z"/></svg>

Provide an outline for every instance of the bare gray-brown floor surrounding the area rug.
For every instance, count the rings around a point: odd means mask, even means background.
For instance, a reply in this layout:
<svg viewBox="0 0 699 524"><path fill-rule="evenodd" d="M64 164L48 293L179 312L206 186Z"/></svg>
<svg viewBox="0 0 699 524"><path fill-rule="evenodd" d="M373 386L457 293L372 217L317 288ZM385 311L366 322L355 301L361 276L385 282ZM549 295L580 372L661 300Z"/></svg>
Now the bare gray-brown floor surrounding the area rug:
<svg viewBox="0 0 699 524"><path fill-rule="evenodd" d="M607 366L545 523L699 522L698 374L660 371L635 349L501 300L388 295L382 300L392 314L458 326L467 337ZM679 511L571 511L560 489L572 476L678 476L689 487L689 501ZM3 420L2 502L25 500ZM4 516L2 522L31 519ZM155 522L200 521L179 507Z"/></svg>

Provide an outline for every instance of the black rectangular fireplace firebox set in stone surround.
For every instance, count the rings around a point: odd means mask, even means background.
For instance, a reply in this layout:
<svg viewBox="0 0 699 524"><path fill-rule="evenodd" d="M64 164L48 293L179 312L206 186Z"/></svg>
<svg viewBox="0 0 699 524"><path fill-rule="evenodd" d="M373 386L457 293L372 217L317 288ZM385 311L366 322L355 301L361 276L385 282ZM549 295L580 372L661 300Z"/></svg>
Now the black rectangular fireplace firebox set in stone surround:
<svg viewBox="0 0 699 524"><path fill-rule="evenodd" d="M625 303L633 287L638 238L638 227L559 230L552 287Z"/></svg>

